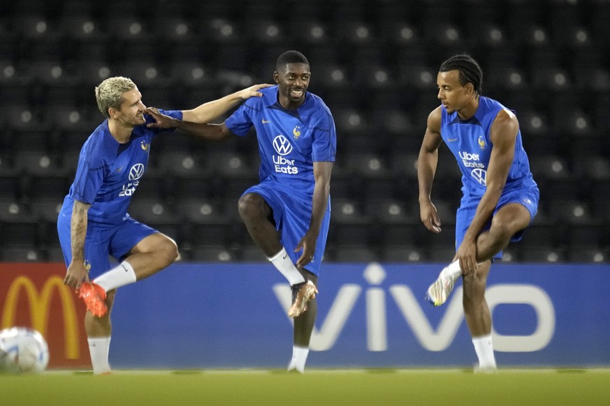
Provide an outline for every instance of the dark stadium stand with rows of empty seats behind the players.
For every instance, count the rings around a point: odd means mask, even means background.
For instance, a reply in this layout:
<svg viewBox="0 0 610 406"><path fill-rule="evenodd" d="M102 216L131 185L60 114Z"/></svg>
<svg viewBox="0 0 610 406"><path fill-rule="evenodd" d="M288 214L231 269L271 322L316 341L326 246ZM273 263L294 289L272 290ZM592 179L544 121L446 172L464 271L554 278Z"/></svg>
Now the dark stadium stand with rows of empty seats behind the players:
<svg viewBox="0 0 610 406"><path fill-rule="evenodd" d="M609 20L608 0L314 0L295 14L268 0L5 1L0 260L61 260L54 216L103 120L101 80L129 76L147 105L191 108L270 82L277 55L297 49L337 126L326 260L451 259L460 174L442 150L436 236L419 221L414 164L437 68L467 52L484 94L517 111L541 189L539 216L505 260L609 262ZM176 239L183 260L264 260L237 214L256 183L254 136L217 145L176 132L152 149L134 217Z"/></svg>

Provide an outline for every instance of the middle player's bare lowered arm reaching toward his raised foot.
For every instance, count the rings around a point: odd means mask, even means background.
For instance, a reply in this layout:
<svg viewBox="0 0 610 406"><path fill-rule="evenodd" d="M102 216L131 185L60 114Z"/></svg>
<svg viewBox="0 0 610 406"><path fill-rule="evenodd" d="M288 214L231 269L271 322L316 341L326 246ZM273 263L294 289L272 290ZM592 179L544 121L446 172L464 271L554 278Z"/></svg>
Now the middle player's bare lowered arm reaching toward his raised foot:
<svg viewBox="0 0 610 406"><path fill-rule="evenodd" d="M314 196L312 197L312 218L310 220L310 228L300 239L298 245L294 249L295 252L303 248L303 254L296 262L297 268L312 262L314 253L316 252L316 242L320 234L320 227L326 213L328 205L328 195L331 193L331 172L333 171L332 162L314 162Z"/></svg>

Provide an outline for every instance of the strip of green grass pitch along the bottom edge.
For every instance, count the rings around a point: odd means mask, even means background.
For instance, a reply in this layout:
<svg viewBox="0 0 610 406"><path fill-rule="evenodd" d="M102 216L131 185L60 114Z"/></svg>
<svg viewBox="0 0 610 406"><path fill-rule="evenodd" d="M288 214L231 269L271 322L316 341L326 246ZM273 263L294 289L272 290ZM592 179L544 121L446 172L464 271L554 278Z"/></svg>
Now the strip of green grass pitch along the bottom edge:
<svg viewBox="0 0 610 406"><path fill-rule="evenodd" d="M610 370L116 370L0 375L0 405L610 405Z"/></svg>

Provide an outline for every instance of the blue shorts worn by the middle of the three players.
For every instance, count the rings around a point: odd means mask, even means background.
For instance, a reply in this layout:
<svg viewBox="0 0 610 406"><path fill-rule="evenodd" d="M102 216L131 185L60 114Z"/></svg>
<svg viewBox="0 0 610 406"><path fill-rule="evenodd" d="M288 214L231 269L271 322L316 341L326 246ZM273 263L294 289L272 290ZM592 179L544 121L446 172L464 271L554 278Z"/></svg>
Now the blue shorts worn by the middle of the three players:
<svg viewBox="0 0 610 406"><path fill-rule="evenodd" d="M305 236L305 233L310 228L310 220L312 218L312 198L307 195L296 193L287 193L280 190L277 183L263 182L259 185L252 186L243 194L256 193L261 195L263 199L271 206L273 210L273 219L275 220L275 229L279 232L279 240L282 246L286 248L286 252L290 255L293 264L296 264L303 250L294 252L300 239ZM307 271L310 271L315 276L319 276L320 264L324 257L326 249L326 239L328 237L328 226L331 224L331 202L328 201L326 213L320 227L320 234L316 241L316 252L312 262L305 266Z"/></svg>

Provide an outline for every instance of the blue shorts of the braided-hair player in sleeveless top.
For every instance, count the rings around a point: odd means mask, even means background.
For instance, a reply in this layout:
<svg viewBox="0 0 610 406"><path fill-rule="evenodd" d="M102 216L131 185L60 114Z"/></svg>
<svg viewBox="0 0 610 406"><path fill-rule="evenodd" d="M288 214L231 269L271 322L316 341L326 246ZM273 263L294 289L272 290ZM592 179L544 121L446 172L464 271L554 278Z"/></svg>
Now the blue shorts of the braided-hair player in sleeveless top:
<svg viewBox="0 0 610 406"><path fill-rule="evenodd" d="M495 210L493 211L493 216L495 213L498 213L498 210L502 208L502 206L506 206L509 203L518 203L521 206L524 206L525 209L528 209L530 212L530 225L536 216L538 211L538 200L539 200L539 191L538 189L518 189L511 190L508 193L504 193L500 197L500 201L498 205L495 206ZM464 239L464 235L466 234L468 227L470 227L470 223L472 223L472 219L474 218L474 213L477 211L477 206L479 206L480 198L467 198L464 197L460 202L460 208L458 209L458 213L456 215L456 250L462 243ZM491 219L488 223L483 227L483 230L489 230L491 227ZM517 232L514 236L511 237L511 242L521 241L523 238L524 230ZM493 260L500 260L502 258L502 251L496 254L493 257Z"/></svg>

